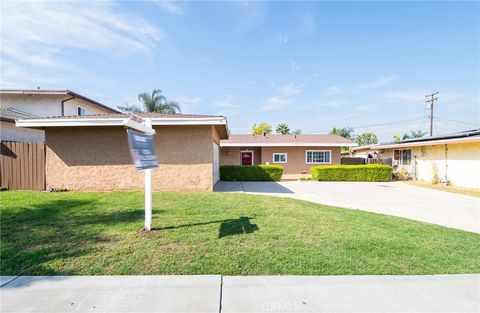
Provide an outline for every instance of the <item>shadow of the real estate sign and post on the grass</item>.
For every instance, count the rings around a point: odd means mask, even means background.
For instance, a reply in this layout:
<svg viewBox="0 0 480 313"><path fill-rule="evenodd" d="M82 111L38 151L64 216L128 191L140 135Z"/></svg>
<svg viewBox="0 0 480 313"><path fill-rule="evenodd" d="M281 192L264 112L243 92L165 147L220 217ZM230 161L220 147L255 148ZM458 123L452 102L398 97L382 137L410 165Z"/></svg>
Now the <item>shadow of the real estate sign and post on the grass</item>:
<svg viewBox="0 0 480 313"><path fill-rule="evenodd" d="M222 238L222 237L232 236L232 235L250 234L257 231L258 226L256 224L252 224L250 222L251 219L252 219L251 217L241 216L239 218L228 218L224 220L216 220L216 221L209 221L209 222L199 222L199 223L183 224L178 226L152 228L152 230L161 231L161 230L168 230L168 229L178 229L178 228L184 228L184 227L193 227L193 226L202 226L202 225L220 223L218 238Z"/></svg>

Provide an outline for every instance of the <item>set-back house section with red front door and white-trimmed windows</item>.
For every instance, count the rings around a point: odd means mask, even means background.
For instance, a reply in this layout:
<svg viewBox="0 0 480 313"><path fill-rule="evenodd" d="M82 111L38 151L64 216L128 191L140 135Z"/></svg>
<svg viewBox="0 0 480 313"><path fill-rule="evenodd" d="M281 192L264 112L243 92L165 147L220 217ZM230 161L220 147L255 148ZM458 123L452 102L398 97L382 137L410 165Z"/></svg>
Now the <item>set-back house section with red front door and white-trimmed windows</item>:
<svg viewBox="0 0 480 313"><path fill-rule="evenodd" d="M310 167L340 164L341 147L356 144L337 135L232 134L220 141L221 165L279 164L284 179L310 173Z"/></svg>

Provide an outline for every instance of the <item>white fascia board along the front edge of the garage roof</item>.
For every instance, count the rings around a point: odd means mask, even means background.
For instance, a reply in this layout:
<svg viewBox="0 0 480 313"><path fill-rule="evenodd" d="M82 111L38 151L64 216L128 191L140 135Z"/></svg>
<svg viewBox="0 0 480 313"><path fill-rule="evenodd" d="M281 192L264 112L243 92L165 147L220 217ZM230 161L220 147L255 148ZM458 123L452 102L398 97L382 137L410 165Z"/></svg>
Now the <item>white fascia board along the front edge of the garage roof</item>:
<svg viewBox="0 0 480 313"><path fill-rule="evenodd" d="M126 118L43 118L20 119L17 127L68 127L68 126L124 126ZM226 125L223 117L217 118L152 118L152 126Z"/></svg>

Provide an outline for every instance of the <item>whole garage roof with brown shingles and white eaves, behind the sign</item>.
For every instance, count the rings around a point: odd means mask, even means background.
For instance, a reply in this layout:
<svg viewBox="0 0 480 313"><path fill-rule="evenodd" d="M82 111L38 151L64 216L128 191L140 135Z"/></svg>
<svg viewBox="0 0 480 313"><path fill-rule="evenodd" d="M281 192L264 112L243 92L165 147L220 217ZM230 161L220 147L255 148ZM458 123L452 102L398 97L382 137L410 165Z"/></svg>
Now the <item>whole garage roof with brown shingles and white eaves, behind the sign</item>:
<svg viewBox="0 0 480 313"><path fill-rule="evenodd" d="M149 118L152 126L180 126L180 125L213 125L222 128L222 138L227 138L227 119L223 116L198 114L163 114L139 113L142 118ZM49 116L40 118L18 119L17 127L77 127L77 126L124 126L130 114L94 114L72 116Z"/></svg>

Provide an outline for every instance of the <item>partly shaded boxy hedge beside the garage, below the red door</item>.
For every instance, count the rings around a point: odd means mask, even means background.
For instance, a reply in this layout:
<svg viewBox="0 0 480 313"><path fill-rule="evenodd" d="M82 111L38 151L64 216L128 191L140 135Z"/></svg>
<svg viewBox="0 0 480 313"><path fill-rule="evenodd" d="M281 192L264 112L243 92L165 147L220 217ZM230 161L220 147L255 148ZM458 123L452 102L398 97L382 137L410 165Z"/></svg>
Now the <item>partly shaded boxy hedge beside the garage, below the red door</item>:
<svg viewBox="0 0 480 313"><path fill-rule="evenodd" d="M283 166L280 165L222 165L220 180L279 181Z"/></svg>

